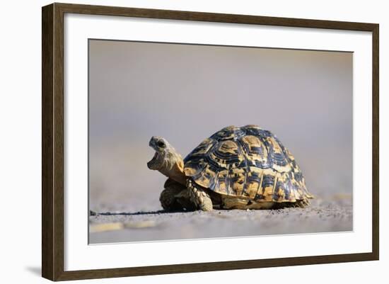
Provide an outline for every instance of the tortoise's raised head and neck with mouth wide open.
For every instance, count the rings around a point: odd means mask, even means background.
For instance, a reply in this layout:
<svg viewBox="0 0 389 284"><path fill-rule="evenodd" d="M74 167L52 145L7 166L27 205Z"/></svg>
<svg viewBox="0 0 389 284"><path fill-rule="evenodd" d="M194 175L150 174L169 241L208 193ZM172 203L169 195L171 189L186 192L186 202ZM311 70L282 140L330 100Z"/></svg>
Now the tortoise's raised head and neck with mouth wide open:
<svg viewBox="0 0 389 284"><path fill-rule="evenodd" d="M147 166L185 185L184 161L172 145L163 137L153 136L149 146L156 151Z"/></svg>

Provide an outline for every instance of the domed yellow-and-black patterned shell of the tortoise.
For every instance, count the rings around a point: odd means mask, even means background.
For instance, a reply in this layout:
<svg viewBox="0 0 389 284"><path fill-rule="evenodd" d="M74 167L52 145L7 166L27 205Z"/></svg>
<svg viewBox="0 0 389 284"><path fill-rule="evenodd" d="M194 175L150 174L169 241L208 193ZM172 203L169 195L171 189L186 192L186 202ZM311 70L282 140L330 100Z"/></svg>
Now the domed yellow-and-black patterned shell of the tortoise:
<svg viewBox="0 0 389 284"><path fill-rule="evenodd" d="M291 152L257 125L224 127L194 148L184 163L188 178L221 195L277 203L312 197Z"/></svg>

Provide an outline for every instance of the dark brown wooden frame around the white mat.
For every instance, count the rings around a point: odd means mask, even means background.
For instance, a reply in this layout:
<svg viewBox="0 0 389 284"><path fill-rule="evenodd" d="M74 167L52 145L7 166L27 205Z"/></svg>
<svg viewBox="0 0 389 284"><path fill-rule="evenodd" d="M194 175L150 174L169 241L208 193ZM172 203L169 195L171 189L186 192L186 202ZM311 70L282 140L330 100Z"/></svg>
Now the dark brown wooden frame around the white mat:
<svg viewBox="0 0 389 284"><path fill-rule="evenodd" d="M210 263L64 271L64 14L158 18L182 21L276 25L296 28L356 30L372 33L372 251ZM74 280L166 273L222 271L229 269L297 266L318 263L378 260L379 256L379 130L378 130L378 24L318 21L144 8L51 4L42 7L42 276L50 280Z"/></svg>

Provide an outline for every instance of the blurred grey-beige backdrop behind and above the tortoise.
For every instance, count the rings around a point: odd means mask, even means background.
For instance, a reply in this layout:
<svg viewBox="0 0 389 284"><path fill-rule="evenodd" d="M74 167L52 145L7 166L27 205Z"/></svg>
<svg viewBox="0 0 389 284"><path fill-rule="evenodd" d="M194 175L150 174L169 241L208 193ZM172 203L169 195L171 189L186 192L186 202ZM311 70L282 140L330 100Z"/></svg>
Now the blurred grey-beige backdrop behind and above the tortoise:
<svg viewBox="0 0 389 284"><path fill-rule="evenodd" d="M161 210L151 136L185 157L247 124L279 137L318 198L352 200L351 52L89 40L91 210Z"/></svg>

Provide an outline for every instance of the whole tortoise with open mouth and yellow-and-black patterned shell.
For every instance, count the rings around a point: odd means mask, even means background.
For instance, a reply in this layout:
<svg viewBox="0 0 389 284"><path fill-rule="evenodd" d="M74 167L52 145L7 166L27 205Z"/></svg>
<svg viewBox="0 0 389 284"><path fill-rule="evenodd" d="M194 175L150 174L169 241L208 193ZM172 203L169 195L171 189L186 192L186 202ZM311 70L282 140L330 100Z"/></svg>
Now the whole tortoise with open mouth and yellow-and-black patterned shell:
<svg viewBox="0 0 389 284"><path fill-rule="evenodd" d="M303 208L313 198L291 152L257 125L224 127L185 159L163 137L149 146L156 153L147 166L168 177L167 211Z"/></svg>

